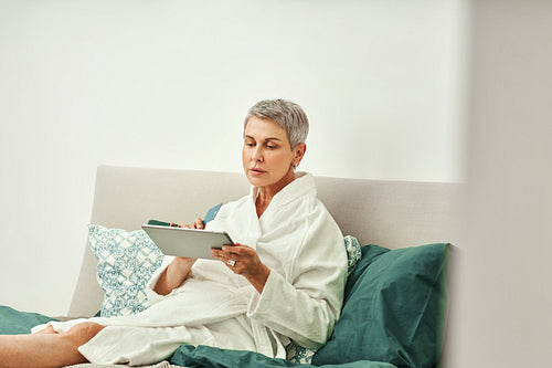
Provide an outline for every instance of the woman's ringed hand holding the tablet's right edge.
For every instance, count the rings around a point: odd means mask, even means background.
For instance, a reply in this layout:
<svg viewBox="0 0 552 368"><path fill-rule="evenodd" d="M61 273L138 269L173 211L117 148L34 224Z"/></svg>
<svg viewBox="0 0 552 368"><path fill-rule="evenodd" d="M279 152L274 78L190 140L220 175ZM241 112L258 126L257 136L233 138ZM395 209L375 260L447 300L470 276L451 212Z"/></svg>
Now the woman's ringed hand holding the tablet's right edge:
<svg viewBox="0 0 552 368"><path fill-rule="evenodd" d="M243 275L257 290L263 292L270 269L261 262L257 252L247 245L223 245L222 250L212 249L211 255L224 262L235 274Z"/></svg>

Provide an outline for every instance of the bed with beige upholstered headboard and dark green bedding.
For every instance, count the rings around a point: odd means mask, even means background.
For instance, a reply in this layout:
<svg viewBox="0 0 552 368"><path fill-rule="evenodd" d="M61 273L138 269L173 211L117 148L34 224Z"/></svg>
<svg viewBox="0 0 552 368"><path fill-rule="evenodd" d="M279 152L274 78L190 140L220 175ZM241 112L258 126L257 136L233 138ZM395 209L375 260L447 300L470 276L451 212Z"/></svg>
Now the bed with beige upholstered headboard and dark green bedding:
<svg viewBox="0 0 552 368"><path fill-rule="evenodd" d="M348 235L346 246L362 245L354 256L349 248L355 261L341 318L328 343L317 351L290 346L288 359L183 345L156 367L438 366L450 305L447 282L456 252L450 243L459 185L329 177L316 177L316 182L319 199ZM109 285L104 283L103 288L98 283L99 265L108 261L98 257L97 231L126 236L135 246L142 244L139 229L148 220L194 219L216 203L243 197L248 188L245 176L237 172L98 167L91 236L68 315L94 316L117 306L108 301ZM141 278L123 275L134 290L156 267L157 259L148 256L149 269L134 270ZM141 307L132 303L125 305L126 313ZM47 319L2 306L0 333L28 333Z"/></svg>

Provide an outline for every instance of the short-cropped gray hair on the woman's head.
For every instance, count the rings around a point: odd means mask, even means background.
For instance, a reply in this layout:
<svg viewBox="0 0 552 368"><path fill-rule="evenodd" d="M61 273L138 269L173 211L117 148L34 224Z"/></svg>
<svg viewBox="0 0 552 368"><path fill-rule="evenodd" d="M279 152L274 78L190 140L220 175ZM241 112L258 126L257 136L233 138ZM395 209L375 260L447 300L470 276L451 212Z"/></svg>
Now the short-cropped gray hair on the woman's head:
<svg viewBox="0 0 552 368"><path fill-rule="evenodd" d="M245 117L244 130L247 120L256 116L276 123L287 133L291 148L305 143L309 134L309 120L301 106L286 99L263 99L253 105Z"/></svg>

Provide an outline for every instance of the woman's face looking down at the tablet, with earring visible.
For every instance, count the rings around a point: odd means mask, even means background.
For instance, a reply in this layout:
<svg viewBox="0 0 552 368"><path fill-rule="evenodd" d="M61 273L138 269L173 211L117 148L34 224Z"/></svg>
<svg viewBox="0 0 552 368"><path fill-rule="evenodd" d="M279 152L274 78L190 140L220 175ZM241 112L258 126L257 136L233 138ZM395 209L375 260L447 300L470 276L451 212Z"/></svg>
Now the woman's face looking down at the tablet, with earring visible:
<svg viewBox="0 0 552 368"><path fill-rule="evenodd" d="M253 116L244 133L242 161L245 175L254 187L275 194L295 179L293 164L299 164L305 149L305 144L291 149L284 128Z"/></svg>

